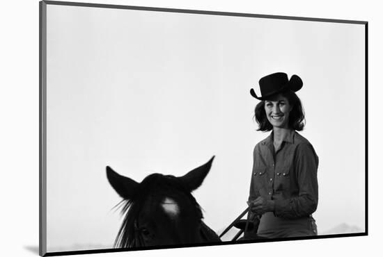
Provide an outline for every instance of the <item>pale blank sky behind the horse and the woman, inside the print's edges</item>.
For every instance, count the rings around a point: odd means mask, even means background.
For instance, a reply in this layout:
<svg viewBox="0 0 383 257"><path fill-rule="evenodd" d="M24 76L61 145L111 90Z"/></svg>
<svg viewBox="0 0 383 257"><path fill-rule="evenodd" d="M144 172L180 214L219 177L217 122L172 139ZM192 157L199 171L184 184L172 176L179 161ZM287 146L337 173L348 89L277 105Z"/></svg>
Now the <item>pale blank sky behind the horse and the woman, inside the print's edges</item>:
<svg viewBox="0 0 383 257"><path fill-rule="evenodd" d="M216 156L194 193L221 231L246 208L261 76L298 74L302 135L320 158L319 232L364 229L364 26L47 6L47 250L111 247L120 198Z"/></svg>

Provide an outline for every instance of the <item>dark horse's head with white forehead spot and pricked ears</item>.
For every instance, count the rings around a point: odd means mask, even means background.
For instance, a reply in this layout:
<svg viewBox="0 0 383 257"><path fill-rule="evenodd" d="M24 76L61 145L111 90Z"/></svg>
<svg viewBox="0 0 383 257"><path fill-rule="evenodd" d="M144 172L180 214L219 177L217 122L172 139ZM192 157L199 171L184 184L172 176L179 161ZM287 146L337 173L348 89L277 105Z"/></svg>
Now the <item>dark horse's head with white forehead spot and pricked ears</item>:
<svg viewBox="0 0 383 257"><path fill-rule="evenodd" d="M220 242L203 222L201 206L192 195L208 175L208 163L184 176L150 174L141 183L121 176L107 166L107 179L123 198L123 224L114 247L158 247Z"/></svg>

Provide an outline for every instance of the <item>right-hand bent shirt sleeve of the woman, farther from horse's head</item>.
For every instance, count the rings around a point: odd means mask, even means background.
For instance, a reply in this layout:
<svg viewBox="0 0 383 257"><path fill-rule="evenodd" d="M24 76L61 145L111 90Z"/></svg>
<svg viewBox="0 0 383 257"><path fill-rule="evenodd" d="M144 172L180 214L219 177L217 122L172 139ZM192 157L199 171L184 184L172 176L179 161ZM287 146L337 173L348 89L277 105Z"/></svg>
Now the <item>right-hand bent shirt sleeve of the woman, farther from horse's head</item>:
<svg viewBox="0 0 383 257"><path fill-rule="evenodd" d="M297 218L311 215L318 206L318 156L309 143L299 144L294 157L299 194L274 201L274 215Z"/></svg>

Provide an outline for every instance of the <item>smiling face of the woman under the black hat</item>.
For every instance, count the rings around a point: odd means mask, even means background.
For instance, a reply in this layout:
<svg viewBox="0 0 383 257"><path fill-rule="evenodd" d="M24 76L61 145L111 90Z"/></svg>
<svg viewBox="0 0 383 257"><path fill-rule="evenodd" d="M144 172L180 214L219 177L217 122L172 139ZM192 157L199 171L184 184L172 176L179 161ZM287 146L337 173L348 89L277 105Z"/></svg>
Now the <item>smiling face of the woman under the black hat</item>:
<svg viewBox="0 0 383 257"><path fill-rule="evenodd" d="M292 106L290 106L288 99L281 94L265 100L266 116L274 128L288 128L291 109Z"/></svg>

